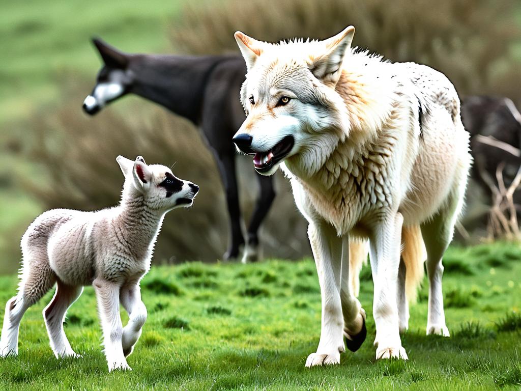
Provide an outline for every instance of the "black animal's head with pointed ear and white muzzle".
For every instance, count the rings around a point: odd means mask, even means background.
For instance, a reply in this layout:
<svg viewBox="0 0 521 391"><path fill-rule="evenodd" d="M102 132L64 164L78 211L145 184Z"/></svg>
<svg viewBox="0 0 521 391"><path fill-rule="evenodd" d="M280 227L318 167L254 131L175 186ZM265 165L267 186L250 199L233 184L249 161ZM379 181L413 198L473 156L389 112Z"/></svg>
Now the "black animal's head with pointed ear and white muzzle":
<svg viewBox="0 0 521 391"><path fill-rule="evenodd" d="M99 112L105 105L129 92L133 75L128 69L128 54L118 51L100 39L92 43L103 60L103 66L97 74L96 85L91 94L83 101L83 110L90 115Z"/></svg>

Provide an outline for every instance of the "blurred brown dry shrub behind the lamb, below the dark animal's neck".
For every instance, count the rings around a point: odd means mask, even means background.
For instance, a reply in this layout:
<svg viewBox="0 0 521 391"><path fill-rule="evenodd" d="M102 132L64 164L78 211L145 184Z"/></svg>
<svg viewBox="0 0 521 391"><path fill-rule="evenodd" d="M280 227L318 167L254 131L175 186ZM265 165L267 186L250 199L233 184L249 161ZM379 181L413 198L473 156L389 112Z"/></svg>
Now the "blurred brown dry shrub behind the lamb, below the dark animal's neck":
<svg viewBox="0 0 521 391"><path fill-rule="evenodd" d="M143 155L148 164L173 164L178 177L200 185L201 191L191 209L176 209L167 215L155 260L219 259L228 240L226 203L213 156L200 133L188 121L144 102L117 103L88 117L81 112L81 101L82 91L90 89L75 82L64 88L67 90L67 103L55 112L36 115L29 127L31 137L25 136L26 156L43 171L24 175L24 186L35 199L44 209L101 209L119 201L123 176L117 155L132 159ZM251 159L238 160L242 206L249 217L257 183ZM308 253L305 224L296 212L287 180L277 175L276 186L280 193L277 206L261 235L265 254L300 258ZM283 219L274 218L281 215Z"/></svg>

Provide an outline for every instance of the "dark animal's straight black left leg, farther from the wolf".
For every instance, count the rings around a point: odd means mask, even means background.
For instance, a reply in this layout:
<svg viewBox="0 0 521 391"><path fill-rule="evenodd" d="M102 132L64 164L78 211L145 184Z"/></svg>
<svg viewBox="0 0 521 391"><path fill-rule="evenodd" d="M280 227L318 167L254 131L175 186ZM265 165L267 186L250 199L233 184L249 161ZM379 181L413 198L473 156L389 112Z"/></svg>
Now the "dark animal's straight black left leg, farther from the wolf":
<svg viewBox="0 0 521 391"><path fill-rule="evenodd" d="M217 155L217 164L225 187L231 231L231 240L229 241L230 246L223 258L225 260L231 260L239 256L240 247L244 245L244 237L242 236L241 229L241 211L239 209L239 192L237 190L237 176L235 176L234 155Z"/></svg>

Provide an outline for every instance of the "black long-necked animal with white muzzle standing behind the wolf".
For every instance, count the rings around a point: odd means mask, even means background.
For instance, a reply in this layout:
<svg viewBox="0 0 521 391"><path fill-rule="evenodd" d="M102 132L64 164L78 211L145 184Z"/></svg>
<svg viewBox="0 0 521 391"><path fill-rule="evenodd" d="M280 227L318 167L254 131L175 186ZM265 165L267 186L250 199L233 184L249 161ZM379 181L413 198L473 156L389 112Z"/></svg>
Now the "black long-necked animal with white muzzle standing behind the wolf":
<svg viewBox="0 0 521 391"><path fill-rule="evenodd" d="M245 119L239 101L246 75L242 57L127 54L98 39L93 43L104 65L92 93L85 98L85 112L96 114L109 102L132 93L166 107L199 127L214 153L226 190L231 240L224 258L237 258L244 236L232 137ZM255 175L260 194L247 228L243 262L258 258L258 229L275 198L272 179Z"/></svg>

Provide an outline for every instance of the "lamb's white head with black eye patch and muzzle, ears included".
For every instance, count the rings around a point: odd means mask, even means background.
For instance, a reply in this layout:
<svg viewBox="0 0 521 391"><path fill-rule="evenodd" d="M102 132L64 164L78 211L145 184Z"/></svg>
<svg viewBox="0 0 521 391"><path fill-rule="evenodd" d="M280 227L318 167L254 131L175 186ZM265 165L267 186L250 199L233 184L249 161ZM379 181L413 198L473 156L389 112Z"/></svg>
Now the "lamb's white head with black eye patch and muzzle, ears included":
<svg viewBox="0 0 521 391"><path fill-rule="evenodd" d="M125 175L123 201L143 196L146 206L159 212L168 212L178 206L190 206L199 186L172 174L166 166L147 165L142 156L135 161L118 156L116 161Z"/></svg>

